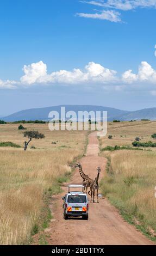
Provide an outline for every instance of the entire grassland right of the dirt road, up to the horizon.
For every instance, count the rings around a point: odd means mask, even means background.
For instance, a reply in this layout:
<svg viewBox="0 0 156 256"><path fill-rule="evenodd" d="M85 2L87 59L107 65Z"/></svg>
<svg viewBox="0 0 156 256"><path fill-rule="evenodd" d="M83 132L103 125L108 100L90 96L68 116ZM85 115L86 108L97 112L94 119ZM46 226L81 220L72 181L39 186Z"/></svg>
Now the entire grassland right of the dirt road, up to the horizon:
<svg viewBox="0 0 156 256"><path fill-rule="evenodd" d="M136 137L140 142L155 142L151 137L153 133L156 133L155 121L108 123L108 135L99 138L99 142L101 156L108 159L107 172L101 182L103 193L126 220L155 239L156 148L132 150L137 149L132 145ZM105 151L108 146L123 149Z"/></svg>

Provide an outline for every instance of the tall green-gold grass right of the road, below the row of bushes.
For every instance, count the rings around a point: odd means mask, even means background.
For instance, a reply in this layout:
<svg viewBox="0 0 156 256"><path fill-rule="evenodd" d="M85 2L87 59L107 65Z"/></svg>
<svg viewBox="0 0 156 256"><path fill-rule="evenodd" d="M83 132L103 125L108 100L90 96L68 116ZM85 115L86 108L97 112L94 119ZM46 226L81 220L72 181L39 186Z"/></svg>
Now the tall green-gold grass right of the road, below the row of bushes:
<svg viewBox="0 0 156 256"><path fill-rule="evenodd" d="M156 230L156 153L116 151L108 153L110 167L102 181L102 190L110 201L142 227Z"/></svg>

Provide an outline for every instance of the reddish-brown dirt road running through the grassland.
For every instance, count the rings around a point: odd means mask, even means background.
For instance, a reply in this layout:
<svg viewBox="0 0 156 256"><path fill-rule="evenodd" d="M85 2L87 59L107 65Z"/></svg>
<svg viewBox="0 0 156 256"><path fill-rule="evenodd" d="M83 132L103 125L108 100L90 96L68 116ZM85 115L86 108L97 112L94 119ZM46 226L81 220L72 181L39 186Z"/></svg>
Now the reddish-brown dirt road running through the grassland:
<svg viewBox="0 0 156 256"><path fill-rule="evenodd" d="M97 167L102 168L101 178L105 171L106 159L98 156L98 139L96 133L89 135L89 144L86 156L79 162L90 178L95 178ZM73 183L82 182L79 170L74 172ZM89 220L80 218L64 220L62 197L67 191L52 199L52 212L54 219L45 232L49 235L51 245L153 245L145 236L132 225L125 222L114 206L107 199L99 198L99 204L89 204Z"/></svg>

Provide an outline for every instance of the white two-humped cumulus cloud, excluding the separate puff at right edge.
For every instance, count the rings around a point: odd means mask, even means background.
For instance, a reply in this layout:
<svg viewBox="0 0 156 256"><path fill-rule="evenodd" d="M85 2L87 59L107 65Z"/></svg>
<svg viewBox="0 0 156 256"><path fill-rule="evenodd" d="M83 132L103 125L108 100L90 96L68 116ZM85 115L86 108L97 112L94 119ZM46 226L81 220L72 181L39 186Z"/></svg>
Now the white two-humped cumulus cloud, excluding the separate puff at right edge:
<svg viewBox="0 0 156 256"><path fill-rule="evenodd" d="M105 83L115 81L116 71L104 68L102 65L89 62L84 71L73 69L72 71L59 70L47 74L47 66L43 62L24 66L24 76L21 77L23 84L52 83L52 84L80 84L80 83Z"/></svg>

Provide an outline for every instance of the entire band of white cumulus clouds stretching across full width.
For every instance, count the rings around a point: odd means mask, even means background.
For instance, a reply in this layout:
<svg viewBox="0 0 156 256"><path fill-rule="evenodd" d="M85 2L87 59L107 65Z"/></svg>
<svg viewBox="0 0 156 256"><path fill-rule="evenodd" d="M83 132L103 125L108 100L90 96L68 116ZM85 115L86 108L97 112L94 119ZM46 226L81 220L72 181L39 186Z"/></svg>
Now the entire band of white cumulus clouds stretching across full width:
<svg viewBox="0 0 156 256"><path fill-rule="evenodd" d="M79 86L96 90L97 86L103 90L147 90L152 95L156 92L156 70L143 61L138 72L132 69L117 75L117 71L105 68L99 63L89 62L84 69L74 68L71 71L58 70L48 74L47 65L42 61L24 65L24 75L20 81L0 80L0 89L15 89L32 86Z"/></svg>

